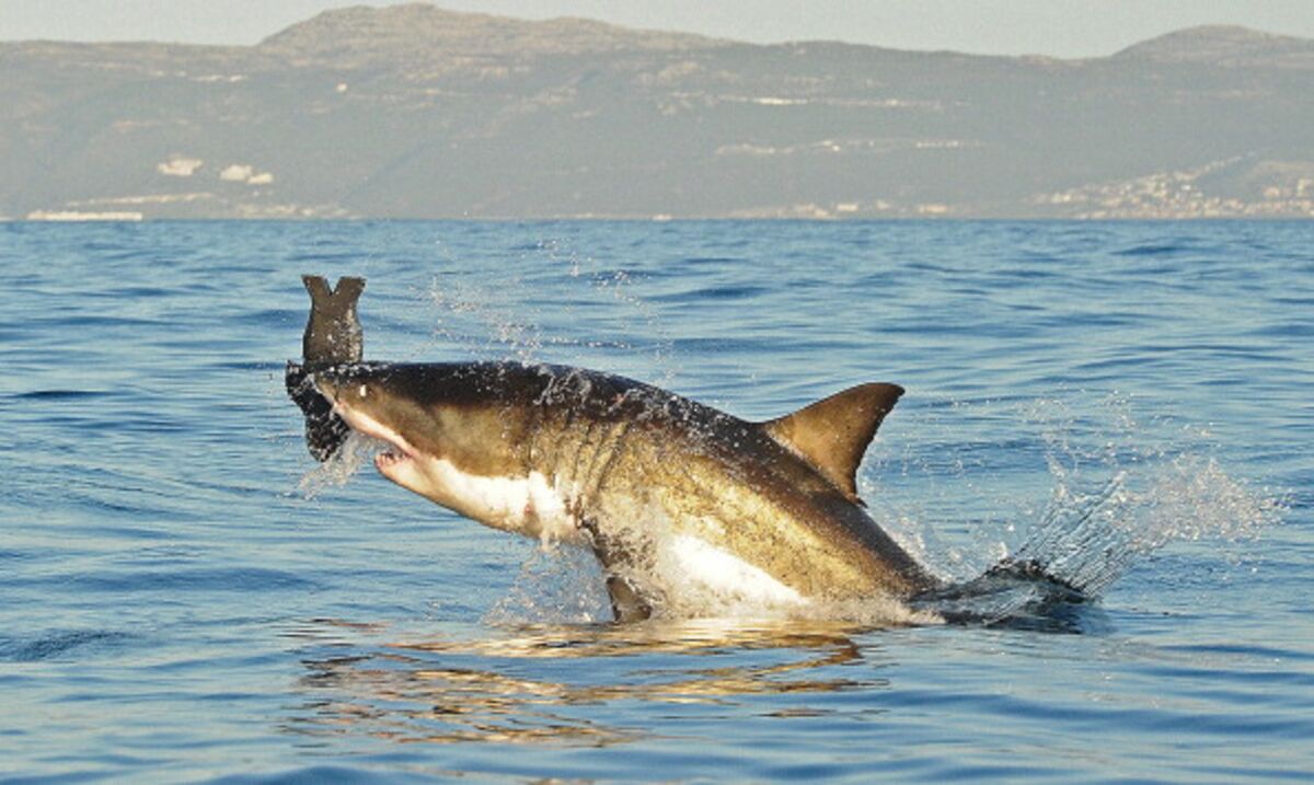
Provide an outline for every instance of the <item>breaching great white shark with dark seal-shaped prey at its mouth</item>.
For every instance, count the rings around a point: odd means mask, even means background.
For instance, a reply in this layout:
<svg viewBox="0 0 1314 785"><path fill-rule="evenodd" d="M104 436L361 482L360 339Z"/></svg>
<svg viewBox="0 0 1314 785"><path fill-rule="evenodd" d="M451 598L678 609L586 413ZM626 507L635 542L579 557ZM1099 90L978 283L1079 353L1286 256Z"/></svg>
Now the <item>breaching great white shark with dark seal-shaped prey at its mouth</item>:
<svg viewBox="0 0 1314 785"><path fill-rule="evenodd" d="M933 606L1024 582L1080 592L1035 562L1005 559L951 584L865 511L857 471L903 387L858 385L749 421L597 370L522 362L363 362L355 301L306 277L305 362L288 391L321 461L347 429L388 446L392 482L487 526L590 549L616 620L707 613L708 604L805 609ZM851 605L850 605L851 606Z"/></svg>

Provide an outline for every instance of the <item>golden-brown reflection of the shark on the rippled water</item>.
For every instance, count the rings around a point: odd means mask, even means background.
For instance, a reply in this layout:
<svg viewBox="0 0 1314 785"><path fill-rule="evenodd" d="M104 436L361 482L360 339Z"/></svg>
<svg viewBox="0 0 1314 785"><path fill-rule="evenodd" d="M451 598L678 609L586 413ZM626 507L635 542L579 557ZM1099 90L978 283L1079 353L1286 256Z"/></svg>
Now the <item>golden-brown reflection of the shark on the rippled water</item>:
<svg viewBox="0 0 1314 785"><path fill-rule="evenodd" d="M551 743L600 747L650 738L607 723L607 706L732 706L753 696L883 689L853 625L696 620L531 626L472 641L384 642L381 630L317 620L289 637L327 656L305 659L305 701L285 729L396 742ZM361 637L364 634L364 638ZM844 668L865 663L865 668ZM770 702L763 715L829 709Z"/></svg>

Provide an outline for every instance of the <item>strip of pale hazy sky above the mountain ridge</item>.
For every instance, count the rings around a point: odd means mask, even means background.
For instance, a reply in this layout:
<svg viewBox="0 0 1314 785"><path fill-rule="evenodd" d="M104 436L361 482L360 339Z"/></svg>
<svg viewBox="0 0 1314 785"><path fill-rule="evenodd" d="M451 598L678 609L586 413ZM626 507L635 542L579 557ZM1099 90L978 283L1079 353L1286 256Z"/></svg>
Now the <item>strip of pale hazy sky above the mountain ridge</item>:
<svg viewBox="0 0 1314 785"><path fill-rule="evenodd" d="M0 0L0 41L255 43L327 8L389 0ZM1314 38L1314 0L444 0L527 18L582 16L741 41L1089 56L1169 30L1246 25Z"/></svg>

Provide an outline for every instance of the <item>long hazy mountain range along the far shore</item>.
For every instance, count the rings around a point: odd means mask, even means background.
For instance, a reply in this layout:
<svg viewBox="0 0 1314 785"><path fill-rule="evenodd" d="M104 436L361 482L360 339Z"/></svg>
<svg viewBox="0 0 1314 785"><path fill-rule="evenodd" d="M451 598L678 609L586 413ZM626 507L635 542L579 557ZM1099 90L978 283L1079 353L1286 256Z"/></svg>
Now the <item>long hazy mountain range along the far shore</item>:
<svg viewBox="0 0 1314 785"><path fill-rule="evenodd" d="M1242 28L1063 60L415 4L0 75L11 218L1314 215L1314 42Z"/></svg>

